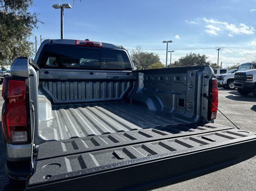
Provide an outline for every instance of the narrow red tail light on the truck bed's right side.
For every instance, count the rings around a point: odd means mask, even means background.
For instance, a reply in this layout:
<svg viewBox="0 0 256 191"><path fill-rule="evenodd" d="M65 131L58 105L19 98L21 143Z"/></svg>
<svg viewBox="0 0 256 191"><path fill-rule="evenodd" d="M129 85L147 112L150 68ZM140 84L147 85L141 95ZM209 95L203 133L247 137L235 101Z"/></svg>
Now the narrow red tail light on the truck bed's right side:
<svg viewBox="0 0 256 191"><path fill-rule="evenodd" d="M217 108L218 107L218 82L217 79L212 79L210 81L212 86L210 86L210 99L208 103L208 120L216 119ZM215 107L216 106L216 107Z"/></svg>

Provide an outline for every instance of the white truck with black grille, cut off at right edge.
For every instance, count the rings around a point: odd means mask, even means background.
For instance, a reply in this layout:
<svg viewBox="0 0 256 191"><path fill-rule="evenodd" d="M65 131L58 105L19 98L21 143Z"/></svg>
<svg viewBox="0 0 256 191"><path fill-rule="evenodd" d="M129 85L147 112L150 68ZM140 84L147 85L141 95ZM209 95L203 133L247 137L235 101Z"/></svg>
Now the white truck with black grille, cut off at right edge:
<svg viewBox="0 0 256 191"><path fill-rule="evenodd" d="M238 72L235 73L234 85L241 95L252 92L256 96L256 63L240 65Z"/></svg>

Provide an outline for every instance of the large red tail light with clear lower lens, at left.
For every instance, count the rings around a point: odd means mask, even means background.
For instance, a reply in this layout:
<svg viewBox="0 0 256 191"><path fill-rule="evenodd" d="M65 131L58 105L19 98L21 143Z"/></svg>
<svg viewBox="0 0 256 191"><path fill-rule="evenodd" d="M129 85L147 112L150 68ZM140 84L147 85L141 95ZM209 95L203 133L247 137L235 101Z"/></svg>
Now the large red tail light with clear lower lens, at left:
<svg viewBox="0 0 256 191"><path fill-rule="evenodd" d="M4 78L2 97L5 108L2 114L2 128L7 143L27 143L28 123L26 112L26 82Z"/></svg>

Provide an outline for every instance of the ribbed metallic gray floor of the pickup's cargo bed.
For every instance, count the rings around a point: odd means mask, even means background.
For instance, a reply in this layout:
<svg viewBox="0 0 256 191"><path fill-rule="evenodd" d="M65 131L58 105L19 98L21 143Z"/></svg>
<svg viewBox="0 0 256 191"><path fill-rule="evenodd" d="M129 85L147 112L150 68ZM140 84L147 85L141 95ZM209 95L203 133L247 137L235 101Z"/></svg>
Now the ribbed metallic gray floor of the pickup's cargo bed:
<svg viewBox="0 0 256 191"><path fill-rule="evenodd" d="M47 134L49 127L53 128L57 140L190 123L125 102L54 106L53 113L53 120L41 122L40 126L47 127L41 133Z"/></svg>

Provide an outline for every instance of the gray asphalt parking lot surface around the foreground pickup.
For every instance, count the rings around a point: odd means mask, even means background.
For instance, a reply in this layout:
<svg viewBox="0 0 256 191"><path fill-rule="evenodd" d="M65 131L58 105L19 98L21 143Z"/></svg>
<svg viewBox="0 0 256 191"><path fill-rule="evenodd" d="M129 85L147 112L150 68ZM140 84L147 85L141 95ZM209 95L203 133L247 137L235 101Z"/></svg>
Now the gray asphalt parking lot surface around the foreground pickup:
<svg viewBox="0 0 256 191"><path fill-rule="evenodd" d="M0 93L2 93L0 91ZM2 108L2 96L0 107ZM240 96L238 92L219 89L219 109L242 130L256 132L256 98L250 94ZM220 113L215 123L232 126ZM1 140L2 142L2 140ZM14 190L8 183L4 171L5 153L0 147L0 190ZM20 187L21 188L21 187ZM18 190L15 188L15 190ZM189 181L156 189L155 191L244 191L256 190L256 157L226 169L204 175Z"/></svg>

